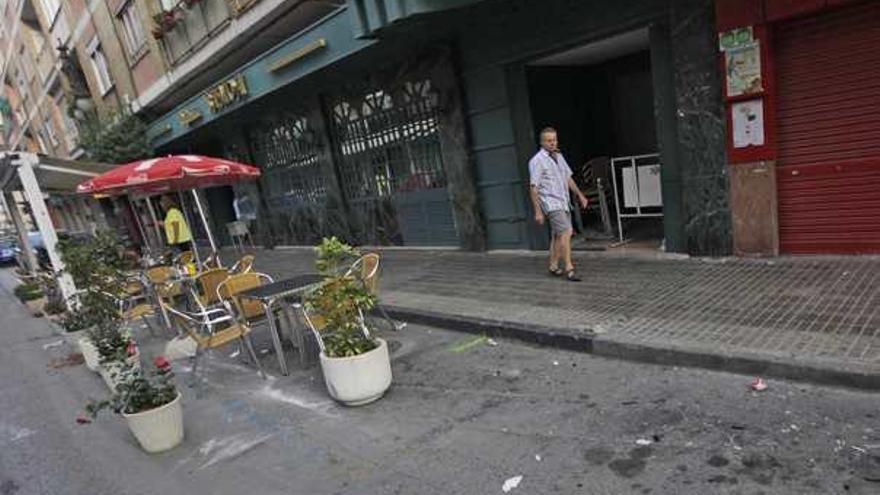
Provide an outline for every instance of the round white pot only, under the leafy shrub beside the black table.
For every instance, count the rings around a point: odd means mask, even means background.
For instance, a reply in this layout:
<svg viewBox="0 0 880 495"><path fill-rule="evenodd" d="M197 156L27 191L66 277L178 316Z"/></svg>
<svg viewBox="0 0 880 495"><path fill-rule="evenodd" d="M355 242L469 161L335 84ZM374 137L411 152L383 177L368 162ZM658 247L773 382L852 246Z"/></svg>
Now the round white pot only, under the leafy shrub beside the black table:
<svg viewBox="0 0 880 495"><path fill-rule="evenodd" d="M321 353L321 371L331 397L348 406L360 406L385 394L391 386L391 357L388 343L376 340L379 347L359 356L331 358Z"/></svg>

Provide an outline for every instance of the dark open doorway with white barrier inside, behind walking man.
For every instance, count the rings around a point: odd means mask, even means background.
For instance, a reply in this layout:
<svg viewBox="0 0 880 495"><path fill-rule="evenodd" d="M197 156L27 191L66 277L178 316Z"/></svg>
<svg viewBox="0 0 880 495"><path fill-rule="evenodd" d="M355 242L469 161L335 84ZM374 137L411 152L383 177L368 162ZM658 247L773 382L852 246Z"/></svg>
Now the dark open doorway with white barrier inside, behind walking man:
<svg viewBox="0 0 880 495"><path fill-rule="evenodd" d="M536 60L527 64L526 77L534 136L545 127L557 130L574 179L590 197L591 206L574 215L575 248L659 248L663 219L648 30Z"/></svg>

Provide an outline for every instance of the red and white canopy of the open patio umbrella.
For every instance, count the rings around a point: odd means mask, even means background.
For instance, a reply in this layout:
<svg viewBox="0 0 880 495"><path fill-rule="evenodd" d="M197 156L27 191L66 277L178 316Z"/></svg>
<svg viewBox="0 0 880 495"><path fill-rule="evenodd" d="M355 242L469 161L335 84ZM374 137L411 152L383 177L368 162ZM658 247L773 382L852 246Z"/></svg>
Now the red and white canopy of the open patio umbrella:
<svg viewBox="0 0 880 495"><path fill-rule="evenodd" d="M121 165L79 186L81 194L159 194L254 180L260 169L223 158L174 155Z"/></svg>

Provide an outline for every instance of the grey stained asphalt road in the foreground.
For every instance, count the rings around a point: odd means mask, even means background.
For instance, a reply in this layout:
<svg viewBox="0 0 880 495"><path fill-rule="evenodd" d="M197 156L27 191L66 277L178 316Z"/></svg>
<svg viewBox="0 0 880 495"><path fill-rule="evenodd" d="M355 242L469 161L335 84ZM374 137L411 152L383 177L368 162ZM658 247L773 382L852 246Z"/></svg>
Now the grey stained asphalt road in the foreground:
<svg viewBox="0 0 880 495"><path fill-rule="evenodd" d="M356 409L331 402L315 368L263 381L234 349L209 355L201 386L184 387L184 444L150 456L118 418L75 422L104 386L8 277L0 495L880 493L876 394L753 392L747 376L425 327L387 335L394 385ZM142 340L146 354L160 344Z"/></svg>

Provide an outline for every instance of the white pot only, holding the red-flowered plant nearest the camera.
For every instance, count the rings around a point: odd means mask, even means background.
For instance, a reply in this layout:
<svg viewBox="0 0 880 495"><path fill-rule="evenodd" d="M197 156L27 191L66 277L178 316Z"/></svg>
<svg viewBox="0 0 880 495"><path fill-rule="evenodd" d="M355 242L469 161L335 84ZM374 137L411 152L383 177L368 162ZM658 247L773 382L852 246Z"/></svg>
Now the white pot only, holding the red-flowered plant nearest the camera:
<svg viewBox="0 0 880 495"><path fill-rule="evenodd" d="M164 406L135 414L123 413L122 417L141 447L151 454L172 449L183 441L180 392L176 399Z"/></svg>

